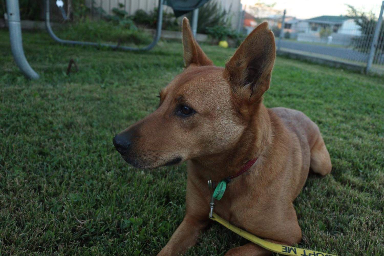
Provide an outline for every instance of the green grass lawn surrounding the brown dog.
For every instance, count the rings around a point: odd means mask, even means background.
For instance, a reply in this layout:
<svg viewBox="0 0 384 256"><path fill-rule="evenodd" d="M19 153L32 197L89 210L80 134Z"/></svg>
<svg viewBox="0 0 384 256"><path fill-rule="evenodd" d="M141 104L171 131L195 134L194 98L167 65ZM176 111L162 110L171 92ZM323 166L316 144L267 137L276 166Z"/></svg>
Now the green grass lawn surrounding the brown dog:
<svg viewBox="0 0 384 256"><path fill-rule="evenodd" d="M185 213L186 165L138 170L112 138L156 109L182 71L181 43L131 53L62 46L45 32L23 41L39 80L23 77L0 31L0 254L158 253ZM218 66L234 52L202 48ZM79 70L67 76L71 58ZM308 115L333 164L331 175L310 175L295 201L298 246L384 255L383 99L382 77L276 59L265 105ZM213 224L187 255L244 243Z"/></svg>

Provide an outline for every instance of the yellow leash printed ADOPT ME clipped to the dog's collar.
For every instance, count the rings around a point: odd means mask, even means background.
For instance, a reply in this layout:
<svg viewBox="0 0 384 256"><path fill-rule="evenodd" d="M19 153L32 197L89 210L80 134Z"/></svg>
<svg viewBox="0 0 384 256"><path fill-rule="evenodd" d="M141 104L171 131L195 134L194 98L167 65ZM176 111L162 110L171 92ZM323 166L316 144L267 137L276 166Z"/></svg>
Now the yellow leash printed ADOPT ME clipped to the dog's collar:
<svg viewBox="0 0 384 256"><path fill-rule="evenodd" d="M299 256L337 256L334 254L321 253L319 251L301 249L297 247L286 246L282 244L275 244L275 243L265 241L261 238L258 238L257 236L252 235L251 233L248 233L247 231L244 231L236 226L233 226L231 223L224 220L223 218L218 216L216 213L212 213L212 217L210 218L211 220L217 221L221 225L225 226L229 230L232 230L237 235L240 235L243 238L248 239L252 243L260 245L261 247L269 251L273 251L275 253L284 254L284 255L299 255Z"/></svg>

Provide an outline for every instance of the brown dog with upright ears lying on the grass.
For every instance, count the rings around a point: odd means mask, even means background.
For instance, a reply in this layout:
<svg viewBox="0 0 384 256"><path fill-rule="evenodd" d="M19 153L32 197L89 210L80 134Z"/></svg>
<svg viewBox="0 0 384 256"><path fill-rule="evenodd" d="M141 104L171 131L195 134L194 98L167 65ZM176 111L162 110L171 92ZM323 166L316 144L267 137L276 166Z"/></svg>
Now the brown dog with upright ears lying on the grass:
<svg viewBox="0 0 384 256"><path fill-rule="evenodd" d="M300 111L267 109L262 101L275 61L275 40L267 23L245 39L219 68L194 40L183 20L186 68L160 93L159 108L116 135L124 160L156 168L188 160L186 214L159 255L177 255L193 246L210 222L211 191L216 182L255 164L228 183L215 212L268 241L292 245L301 239L293 200L311 169L331 172L319 128ZM228 255L264 255L253 243Z"/></svg>

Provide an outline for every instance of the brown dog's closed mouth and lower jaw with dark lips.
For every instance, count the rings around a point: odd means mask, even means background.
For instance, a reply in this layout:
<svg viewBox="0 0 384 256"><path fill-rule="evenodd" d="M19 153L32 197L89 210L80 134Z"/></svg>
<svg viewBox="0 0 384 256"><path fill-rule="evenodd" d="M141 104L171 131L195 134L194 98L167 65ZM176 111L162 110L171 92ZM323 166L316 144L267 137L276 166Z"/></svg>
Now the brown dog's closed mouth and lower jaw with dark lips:
<svg viewBox="0 0 384 256"><path fill-rule="evenodd" d="M141 157L130 157L129 155L121 154L121 157L128 164L139 169L155 169L158 167L177 165L182 162L182 157L176 156L169 160L164 159L163 157L149 157L149 159L142 159Z"/></svg>

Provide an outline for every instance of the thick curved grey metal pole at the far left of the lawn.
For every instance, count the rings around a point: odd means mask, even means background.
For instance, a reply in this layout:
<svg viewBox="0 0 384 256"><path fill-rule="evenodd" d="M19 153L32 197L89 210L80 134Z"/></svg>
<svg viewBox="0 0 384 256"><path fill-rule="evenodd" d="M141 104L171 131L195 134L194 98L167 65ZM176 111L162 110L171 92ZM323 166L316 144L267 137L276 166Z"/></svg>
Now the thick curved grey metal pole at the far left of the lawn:
<svg viewBox="0 0 384 256"><path fill-rule="evenodd" d="M39 75L31 68L24 55L18 0L7 0L7 15L13 59L26 77L38 79Z"/></svg>

